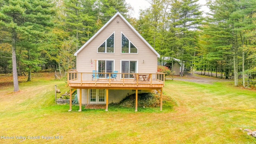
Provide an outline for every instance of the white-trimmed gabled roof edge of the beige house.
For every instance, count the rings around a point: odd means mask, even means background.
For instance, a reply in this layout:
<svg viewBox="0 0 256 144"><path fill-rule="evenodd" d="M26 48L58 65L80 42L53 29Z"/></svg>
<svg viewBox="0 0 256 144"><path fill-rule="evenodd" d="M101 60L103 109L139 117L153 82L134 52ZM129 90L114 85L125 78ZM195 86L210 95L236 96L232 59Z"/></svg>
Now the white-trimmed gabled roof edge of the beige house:
<svg viewBox="0 0 256 144"><path fill-rule="evenodd" d="M100 34L100 32L102 32L102 30L104 30L104 28L106 28L106 26L108 26L108 24L110 24L110 22L112 22L116 16L120 16L120 18L124 20L124 22L138 35L138 37L140 37L140 39L157 55L157 57L160 57L160 54L158 54L158 52L156 52L156 50L150 46L150 44L137 32L137 30L135 30L135 28L124 18L124 16L122 16L122 14L120 14L120 12L117 12L110 20L108 20L108 22L102 26L102 28L100 28L100 30L98 30L98 32L96 32L96 34L94 34L92 38L90 38L78 51L76 51L74 55L77 56L77 54L81 52L81 50L84 49L87 44L89 44L98 34Z"/></svg>

